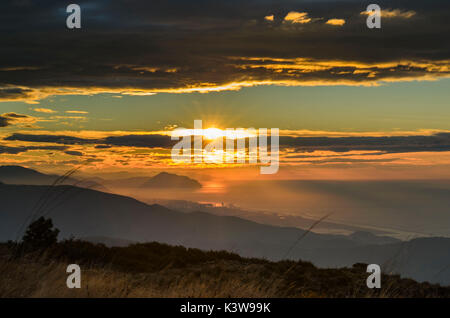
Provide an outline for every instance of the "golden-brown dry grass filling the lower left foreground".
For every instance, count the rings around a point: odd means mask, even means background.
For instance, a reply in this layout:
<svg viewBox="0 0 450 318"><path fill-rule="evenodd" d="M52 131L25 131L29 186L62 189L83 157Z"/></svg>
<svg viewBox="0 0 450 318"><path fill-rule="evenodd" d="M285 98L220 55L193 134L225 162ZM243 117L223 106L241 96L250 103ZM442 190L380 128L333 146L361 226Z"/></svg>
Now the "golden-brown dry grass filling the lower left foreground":
<svg viewBox="0 0 450 318"><path fill-rule="evenodd" d="M258 265L211 264L202 268L123 273L82 268L82 288L66 287L66 264L0 263L0 297L276 297L280 279L260 280Z"/></svg>

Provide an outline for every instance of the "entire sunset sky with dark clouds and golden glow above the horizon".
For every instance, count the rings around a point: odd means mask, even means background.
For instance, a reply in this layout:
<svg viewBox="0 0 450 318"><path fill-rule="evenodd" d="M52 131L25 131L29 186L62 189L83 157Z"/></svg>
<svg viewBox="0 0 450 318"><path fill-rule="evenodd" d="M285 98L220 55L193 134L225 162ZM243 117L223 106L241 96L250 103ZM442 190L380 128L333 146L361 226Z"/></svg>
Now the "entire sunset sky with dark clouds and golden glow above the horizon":
<svg viewBox="0 0 450 318"><path fill-rule="evenodd" d="M448 1L379 1L381 29L353 0L78 4L82 28L69 30L61 1L2 3L0 164L450 178ZM279 128L279 173L174 164L170 132L198 119Z"/></svg>

